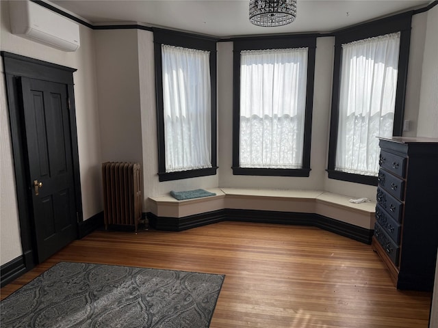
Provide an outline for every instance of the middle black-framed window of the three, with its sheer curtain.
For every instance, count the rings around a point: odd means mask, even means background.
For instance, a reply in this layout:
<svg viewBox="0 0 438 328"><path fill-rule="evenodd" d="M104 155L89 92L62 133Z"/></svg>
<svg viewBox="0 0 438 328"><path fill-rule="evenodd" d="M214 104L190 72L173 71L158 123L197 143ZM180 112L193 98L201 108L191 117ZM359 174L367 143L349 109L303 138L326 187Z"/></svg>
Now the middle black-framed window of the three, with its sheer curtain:
<svg viewBox="0 0 438 328"><path fill-rule="evenodd" d="M315 38L235 42L233 174L309 176Z"/></svg>

